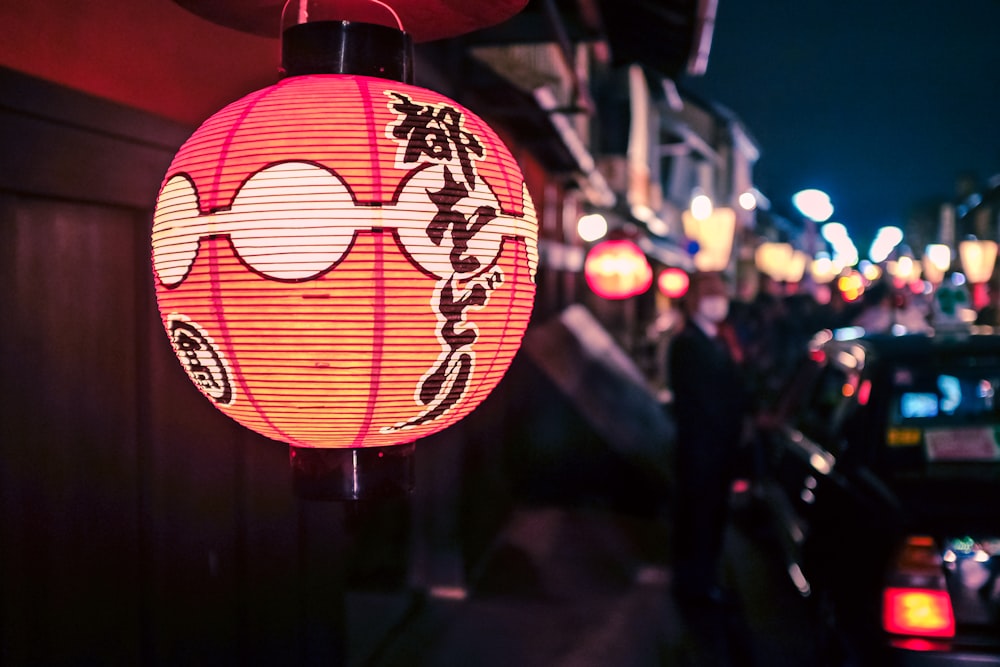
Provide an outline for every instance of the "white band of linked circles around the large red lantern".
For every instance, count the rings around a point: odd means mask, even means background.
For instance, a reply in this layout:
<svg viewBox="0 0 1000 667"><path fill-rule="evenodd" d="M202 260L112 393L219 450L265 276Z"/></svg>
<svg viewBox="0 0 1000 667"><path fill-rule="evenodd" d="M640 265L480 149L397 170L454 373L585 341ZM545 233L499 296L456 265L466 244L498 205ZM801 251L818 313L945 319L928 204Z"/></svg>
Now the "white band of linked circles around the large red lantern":
<svg viewBox="0 0 1000 667"><path fill-rule="evenodd" d="M326 169L284 162L251 177L228 211L205 215L199 214L191 182L175 176L164 186L153 219L153 267L164 285L175 286L191 269L200 239L228 235L237 254L255 271L278 280L304 280L340 261L356 231L395 228L413 261L445 278L455 273L451 260L454 230L449 228L440 244L429 241L426 231L428 192L441 188L444 169L437 165L416 172L393 206L356 206L343 182ZM497 212L464 244L463 254L475 259L465 275L492 265L505 237L521 237L529 242L533 277L538 250L534 233L526 226L534 224L534 210L521 218L499 215L496 197L481 190L452 206L473 222L480 207ZM524 201L531 206L530 197ZM420 202L422 208L417 205Z"/></svg>

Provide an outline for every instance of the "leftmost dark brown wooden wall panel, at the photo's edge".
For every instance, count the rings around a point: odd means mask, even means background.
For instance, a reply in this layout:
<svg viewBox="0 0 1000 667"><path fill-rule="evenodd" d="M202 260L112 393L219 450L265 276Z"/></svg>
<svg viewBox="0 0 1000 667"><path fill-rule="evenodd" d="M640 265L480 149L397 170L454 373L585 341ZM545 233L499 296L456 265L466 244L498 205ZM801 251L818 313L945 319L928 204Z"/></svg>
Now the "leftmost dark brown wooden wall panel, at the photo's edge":
<svg viewBox="0 0 1000 667"><path fill-rule="evenodd" d="M134 218L0 197L0 662L139 655Z"/></svg>

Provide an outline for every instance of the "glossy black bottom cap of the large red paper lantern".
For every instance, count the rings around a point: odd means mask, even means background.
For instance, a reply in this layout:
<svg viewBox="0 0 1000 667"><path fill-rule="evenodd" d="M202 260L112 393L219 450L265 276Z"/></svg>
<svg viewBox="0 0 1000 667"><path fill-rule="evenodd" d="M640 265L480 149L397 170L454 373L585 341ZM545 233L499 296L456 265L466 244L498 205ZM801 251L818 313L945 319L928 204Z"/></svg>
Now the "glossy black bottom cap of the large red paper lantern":
<svg viewBox="0 0 1000 667"><path fill-rule="evenodd" d="M305 500L397 498L413 491L415 443L390 447L289 447L295 495Z"/></svg>

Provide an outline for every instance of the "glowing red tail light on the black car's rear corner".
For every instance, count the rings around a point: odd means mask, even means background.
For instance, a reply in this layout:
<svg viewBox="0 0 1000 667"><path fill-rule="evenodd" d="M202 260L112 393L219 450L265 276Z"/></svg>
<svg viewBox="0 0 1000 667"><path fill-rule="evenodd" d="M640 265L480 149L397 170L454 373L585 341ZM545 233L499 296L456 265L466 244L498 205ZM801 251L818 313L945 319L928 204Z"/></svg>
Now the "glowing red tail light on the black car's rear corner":
<svg viewBox="0 0 1000 667"><path fill-rule="evenodd" d="M882 593L882 627L896 635L955 636L955 613L930 537L906 539Z"/></svg>

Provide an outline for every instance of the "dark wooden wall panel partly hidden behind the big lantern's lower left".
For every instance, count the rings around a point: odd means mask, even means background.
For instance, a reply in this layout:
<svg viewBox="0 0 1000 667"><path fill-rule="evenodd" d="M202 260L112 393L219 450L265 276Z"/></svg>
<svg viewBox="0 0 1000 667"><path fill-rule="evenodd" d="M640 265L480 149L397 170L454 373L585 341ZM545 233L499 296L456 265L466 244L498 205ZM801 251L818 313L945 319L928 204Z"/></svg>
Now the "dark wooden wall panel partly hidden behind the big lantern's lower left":
<svg viewBox="0 0 1000 667"><path fill-rule="evenodd" d="M185 377L155 313L146 322L151 651L156 664L219 664L238 634L241 433Z"/></svg>

